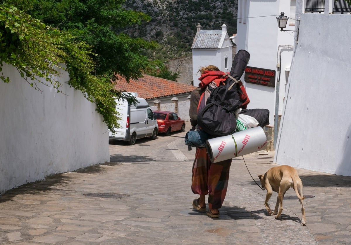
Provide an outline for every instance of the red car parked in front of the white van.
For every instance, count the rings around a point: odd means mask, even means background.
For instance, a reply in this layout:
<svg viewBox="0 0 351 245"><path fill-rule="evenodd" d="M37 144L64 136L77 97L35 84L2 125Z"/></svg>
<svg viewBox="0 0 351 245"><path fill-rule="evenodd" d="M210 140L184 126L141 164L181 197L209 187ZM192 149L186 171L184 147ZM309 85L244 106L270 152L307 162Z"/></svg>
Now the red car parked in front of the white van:
<svg viewBox="0 0 351 245"><path fill-rule="evenodd" d="M176 113L171 111L154 111L158 124L158 132L171 135L174 131L185 131L185 121L181 120Z"/></svg>

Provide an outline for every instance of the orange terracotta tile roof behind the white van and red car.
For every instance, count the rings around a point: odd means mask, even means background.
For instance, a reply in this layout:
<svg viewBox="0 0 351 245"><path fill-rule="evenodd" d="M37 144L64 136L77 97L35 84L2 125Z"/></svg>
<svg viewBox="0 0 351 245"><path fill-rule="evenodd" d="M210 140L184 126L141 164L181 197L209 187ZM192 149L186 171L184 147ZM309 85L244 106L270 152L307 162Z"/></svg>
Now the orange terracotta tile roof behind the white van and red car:
<svg viewBox="0 0 351 245"><path fill-rule="evenodd" d="M196 87L171 80L144 75L138 80L130 79L129 84L126 79L119 77L115 81L115 90L127 92L137 92L138 96L144 99L155 99L177 94L191 93Z"/></svg>

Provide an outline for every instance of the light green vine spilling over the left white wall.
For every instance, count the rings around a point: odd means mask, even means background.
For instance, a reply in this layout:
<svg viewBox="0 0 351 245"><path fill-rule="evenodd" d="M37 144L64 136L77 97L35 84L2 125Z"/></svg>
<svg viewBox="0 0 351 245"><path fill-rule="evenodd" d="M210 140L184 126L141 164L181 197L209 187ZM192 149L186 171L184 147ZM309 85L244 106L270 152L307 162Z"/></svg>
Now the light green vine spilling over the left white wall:
<svg viewBox="0 0 351 245"><path fill-rule="evenodd" d="M67 31L46 26L15 7L0 5L0 79L10 82L2 73L2 65L7 63L15 66L35 89L41 91L39 84L51 84L61 92L55 76L60 75L59 69L67 70L68 84L96 103L97 111L113 131L118 117L114 97L122 94L113 91L109 77L92 75L92 55L89 45Z"/></svg>

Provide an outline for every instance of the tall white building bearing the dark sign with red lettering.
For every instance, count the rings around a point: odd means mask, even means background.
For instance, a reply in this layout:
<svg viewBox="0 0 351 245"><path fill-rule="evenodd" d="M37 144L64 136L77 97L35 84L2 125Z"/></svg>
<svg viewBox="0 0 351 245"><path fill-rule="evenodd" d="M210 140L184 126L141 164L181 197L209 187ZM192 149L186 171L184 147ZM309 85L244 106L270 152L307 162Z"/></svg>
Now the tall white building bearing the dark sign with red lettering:
<svg viewBox="0 0 351 245"><path fill-rule="evenodd" d="M285 30L278 29L276 17L284 12L289 19ZM287 77L293 55L295 0L238 1L237 34L232 38L237 50L251 55L244 82L250 104L247 109L270 111L270 126L277 126L274 115L282 114ZM278 120L278 117L277 119Z"/></svg>

